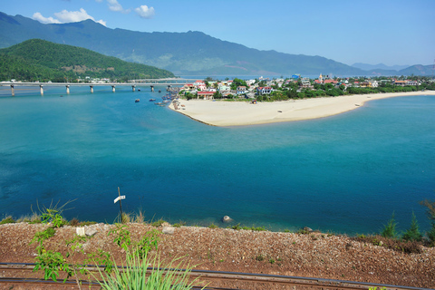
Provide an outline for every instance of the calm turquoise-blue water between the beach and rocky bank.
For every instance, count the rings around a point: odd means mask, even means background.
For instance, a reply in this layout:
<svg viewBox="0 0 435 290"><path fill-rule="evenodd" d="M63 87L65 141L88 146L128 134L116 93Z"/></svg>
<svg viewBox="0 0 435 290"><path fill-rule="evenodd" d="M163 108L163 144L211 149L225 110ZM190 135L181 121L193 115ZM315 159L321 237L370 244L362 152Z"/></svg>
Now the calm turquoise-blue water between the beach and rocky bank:
<svg viewBox="0 0 435 290"><path fill-rule="evenodd" d="M164 90L164 87L161 88ZM366 103L337 116L252 127L208 126L131 88L0 90L0 214L75 199L67 218L209 225L225 215L272 230L399 229L435 197L435 97ZM63 97L60 97L60 95ZM134 100L140 98L140 102Z"/></svg>

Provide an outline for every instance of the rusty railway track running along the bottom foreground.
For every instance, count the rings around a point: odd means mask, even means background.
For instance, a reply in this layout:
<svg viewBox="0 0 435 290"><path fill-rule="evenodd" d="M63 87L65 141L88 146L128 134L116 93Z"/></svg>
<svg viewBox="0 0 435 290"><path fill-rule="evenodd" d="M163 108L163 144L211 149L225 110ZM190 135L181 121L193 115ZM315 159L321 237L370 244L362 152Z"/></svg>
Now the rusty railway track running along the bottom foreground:
<svg viewBox="0 0 435 290"><path fill-rule="evenodd" d="M85 269L91 272L101 270L104 266L85 266ZM33 271L33 263L0 263L0 271L4 273L8 271ZM148 269L149 271L152 268ZM179 271L182 269L168 269ZM252 274L252 273L237 273L237 272L221 272L221 271L208 271L208 270L190 270L190 277L200 277L204 281L225 281L230 283L245 283L245 284L263 284L263 285L287 285L298 286L304 288L321 288L321 289L368 289L369 287L377 287L377 289L386 288L388 290L430 290L429 288L420 288L412 286L401 285L383 285L375 283L354 282L345 280L334 280L313 277L300 277L290 275L267 275L267 274ZM81 280L82 285L88 287L99 286L98 281ZM63 281L43 280L38 278L28 277L0 277L0 284L25 284L25 285L76 285L74 279L70 279L63 283ZM201 287L194 287L194 289L201 289ZM207 287L210 290L231 290L229 288Z"/></svg>

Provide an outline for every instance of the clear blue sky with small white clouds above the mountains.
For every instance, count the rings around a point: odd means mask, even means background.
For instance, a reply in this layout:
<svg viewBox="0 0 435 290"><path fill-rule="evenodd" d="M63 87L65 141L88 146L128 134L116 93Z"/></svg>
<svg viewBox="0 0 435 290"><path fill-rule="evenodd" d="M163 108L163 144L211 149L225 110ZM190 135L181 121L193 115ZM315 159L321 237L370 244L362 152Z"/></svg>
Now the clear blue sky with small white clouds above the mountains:
<svg viewBox="0 0 435 290"><path fill-rule="evenodd" d="M43 23L87 18L140 32L200 31L281 53L346 64L432 64L435 0L1 0Z"/></svg>

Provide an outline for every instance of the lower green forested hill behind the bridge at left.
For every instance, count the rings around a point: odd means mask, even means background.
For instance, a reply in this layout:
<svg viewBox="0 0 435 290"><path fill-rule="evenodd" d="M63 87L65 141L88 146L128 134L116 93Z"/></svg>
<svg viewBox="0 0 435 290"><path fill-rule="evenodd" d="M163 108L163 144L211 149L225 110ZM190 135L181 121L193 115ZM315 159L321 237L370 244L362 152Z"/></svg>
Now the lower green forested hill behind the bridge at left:
<svg viewBox="0 0 435 290"><path fill-rule="evenodd" d="M0 49L0 81L65 82L77 78L117 80L173 77L169 71L140 63L127 63L81 47L40 39Z"/></svg>

